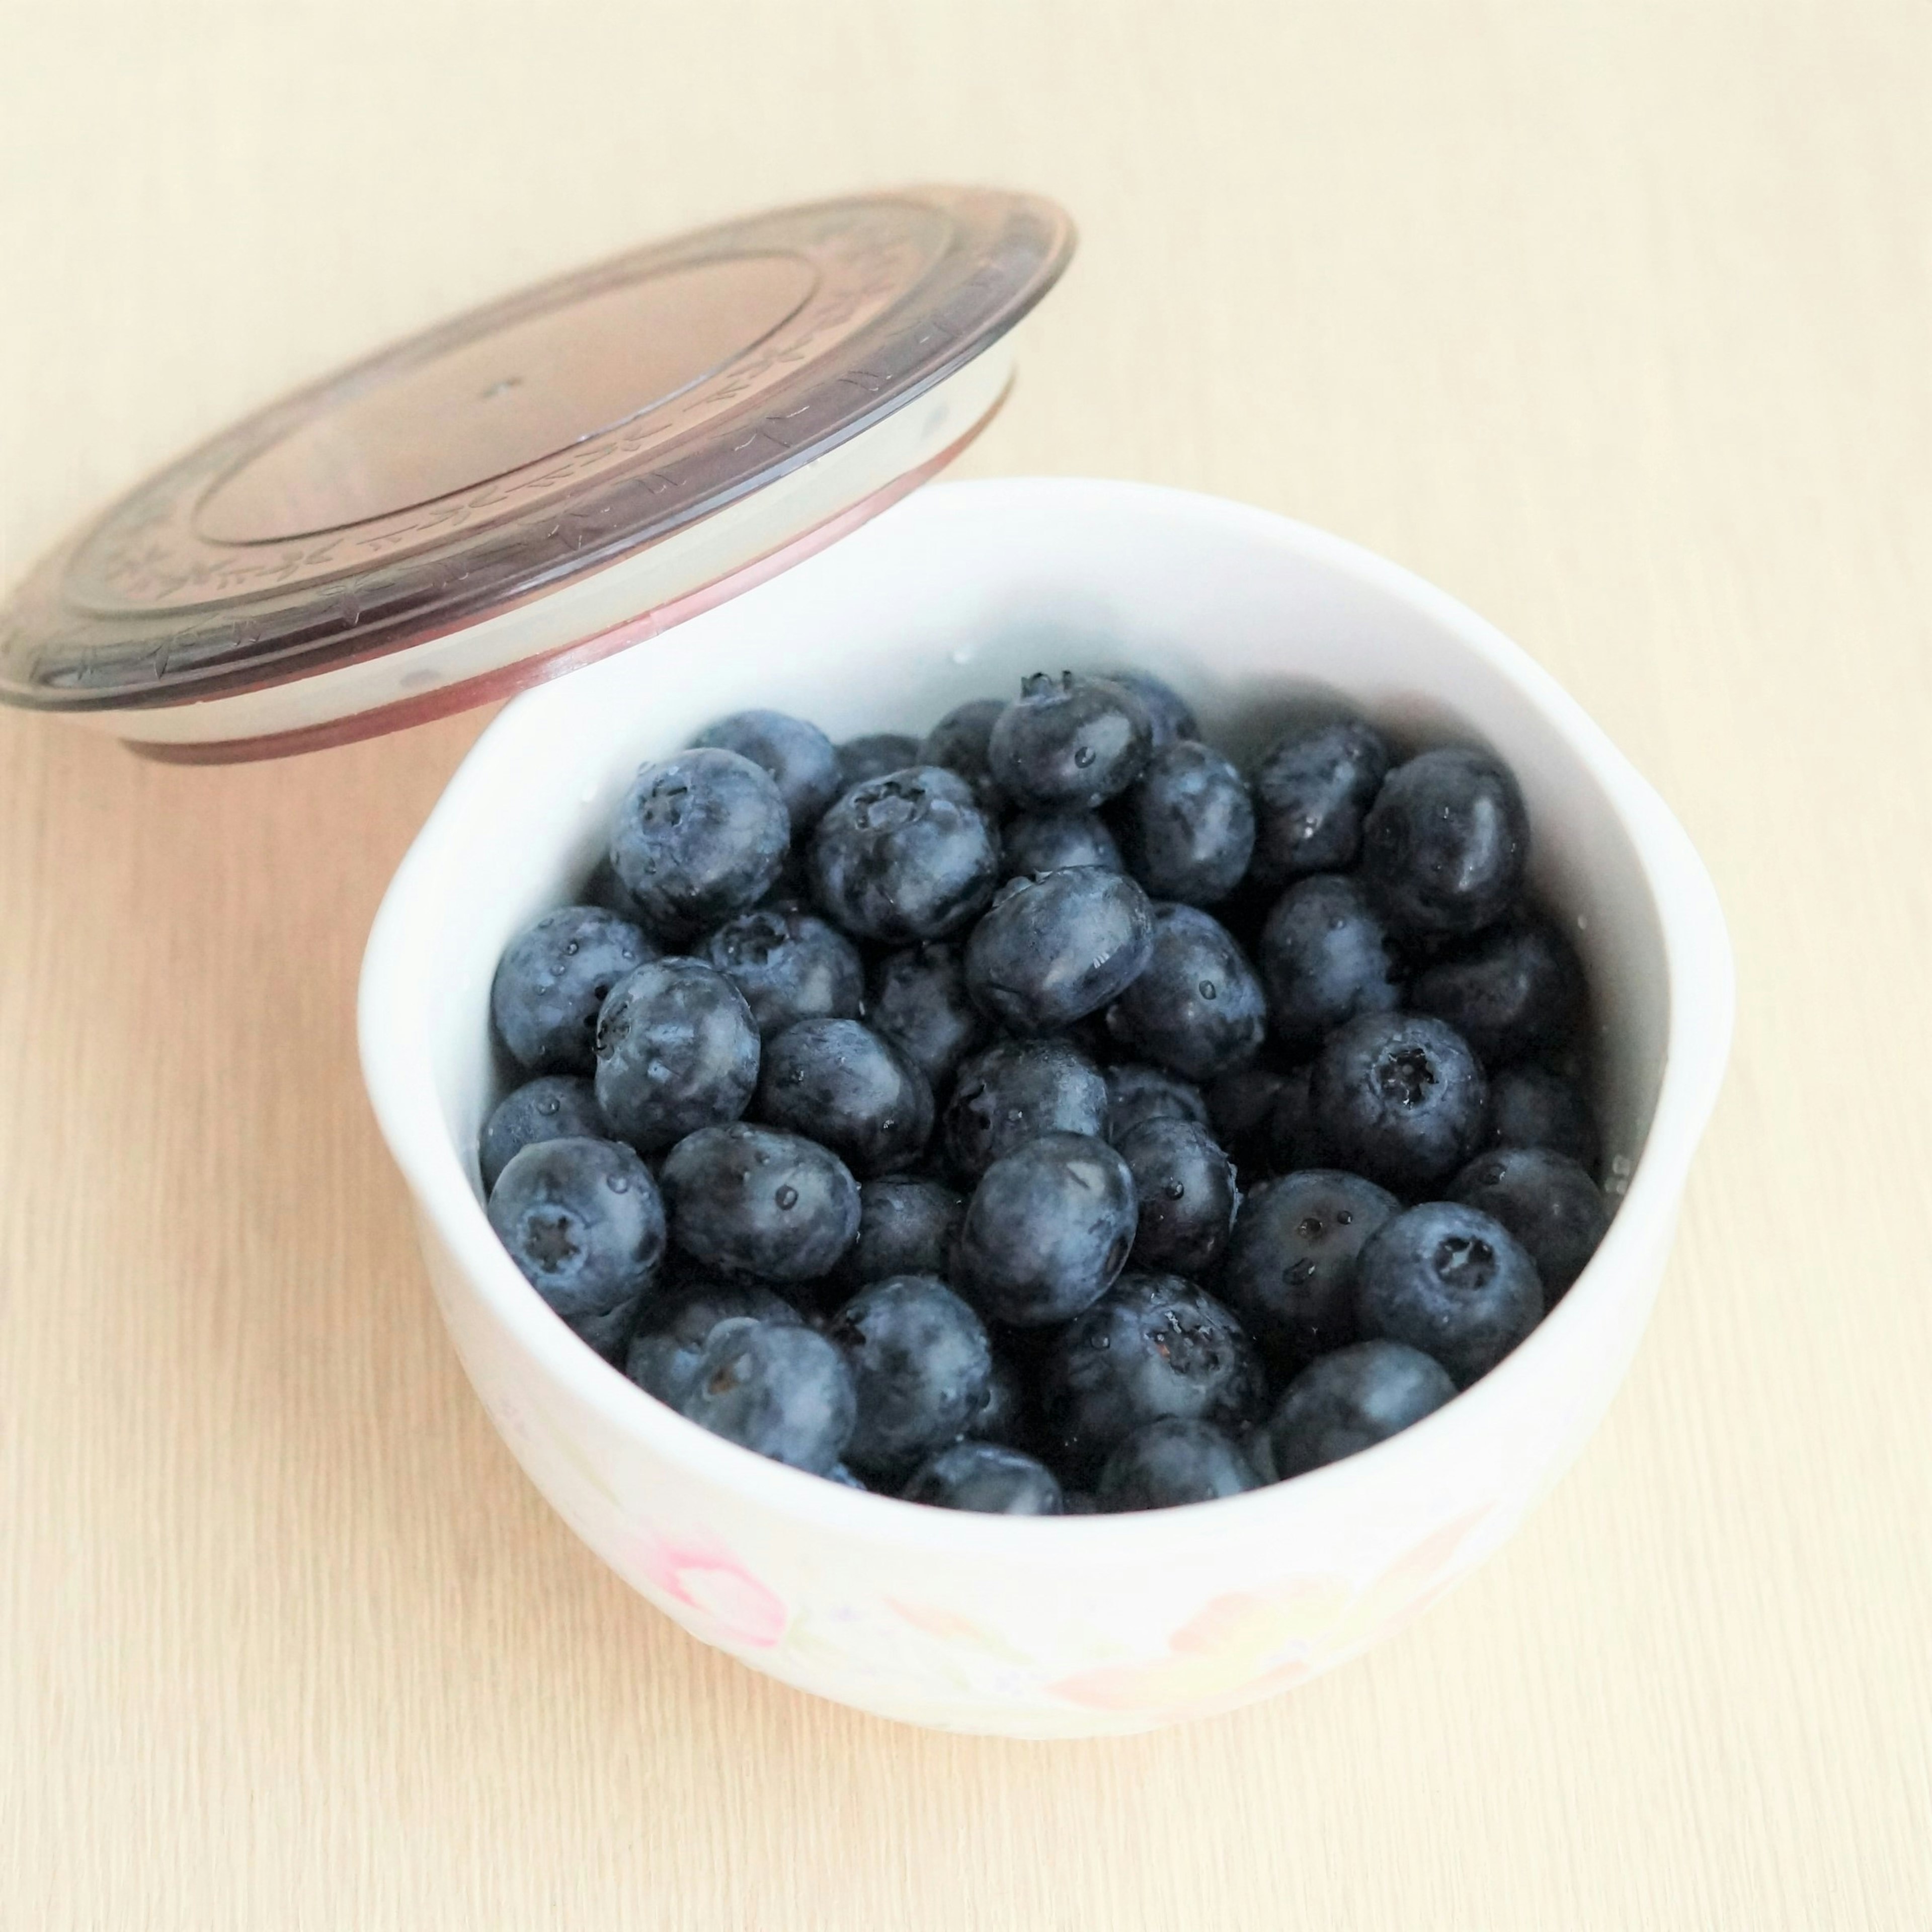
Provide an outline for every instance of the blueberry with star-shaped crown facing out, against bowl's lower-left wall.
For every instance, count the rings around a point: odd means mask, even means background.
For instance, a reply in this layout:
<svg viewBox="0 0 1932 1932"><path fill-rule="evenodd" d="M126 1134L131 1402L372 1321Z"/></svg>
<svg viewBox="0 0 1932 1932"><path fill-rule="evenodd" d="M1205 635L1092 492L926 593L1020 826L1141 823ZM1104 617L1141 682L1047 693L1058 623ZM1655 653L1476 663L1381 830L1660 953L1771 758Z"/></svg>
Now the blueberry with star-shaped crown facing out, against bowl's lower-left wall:
<svg viewBox="0 0 1932 1932"><path fill-rule="evenodd" d="M603 1356L624 1345L665 1254L665 1208L630 1148L533 1142L497 1177L489 1225L576 1335Z"/></svg>

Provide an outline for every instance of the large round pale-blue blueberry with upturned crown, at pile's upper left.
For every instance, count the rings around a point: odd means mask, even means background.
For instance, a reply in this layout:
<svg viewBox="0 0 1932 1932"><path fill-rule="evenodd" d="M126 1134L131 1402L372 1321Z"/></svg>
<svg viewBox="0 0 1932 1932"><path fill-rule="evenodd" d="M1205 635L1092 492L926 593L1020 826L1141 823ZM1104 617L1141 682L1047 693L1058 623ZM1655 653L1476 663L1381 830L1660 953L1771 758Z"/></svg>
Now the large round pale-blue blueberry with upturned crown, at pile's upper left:
<svg viewBox="0 0 1932 1932"><path fill-rule="evenodd" d="M690 935L755 906L790 838L771 773L701 746L638 771L611 833L611 864L655 931Z"/></svg>

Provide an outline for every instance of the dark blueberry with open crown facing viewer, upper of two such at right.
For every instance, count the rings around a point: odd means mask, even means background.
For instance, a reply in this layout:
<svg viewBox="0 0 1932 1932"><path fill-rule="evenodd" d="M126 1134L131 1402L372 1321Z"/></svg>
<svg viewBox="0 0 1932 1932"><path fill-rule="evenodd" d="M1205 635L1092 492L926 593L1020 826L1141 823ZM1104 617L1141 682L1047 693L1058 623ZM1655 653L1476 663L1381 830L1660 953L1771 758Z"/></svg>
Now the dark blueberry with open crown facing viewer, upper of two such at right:
<svg viewBox="0 0 1932 1932"><path fill-rule="evenodd" d="M1329 1034L1308 1076L1335 1167L1426 1194L1482 1142L1488 1084L1463 1036L1418 1012L1366 1012Z"/></svg>

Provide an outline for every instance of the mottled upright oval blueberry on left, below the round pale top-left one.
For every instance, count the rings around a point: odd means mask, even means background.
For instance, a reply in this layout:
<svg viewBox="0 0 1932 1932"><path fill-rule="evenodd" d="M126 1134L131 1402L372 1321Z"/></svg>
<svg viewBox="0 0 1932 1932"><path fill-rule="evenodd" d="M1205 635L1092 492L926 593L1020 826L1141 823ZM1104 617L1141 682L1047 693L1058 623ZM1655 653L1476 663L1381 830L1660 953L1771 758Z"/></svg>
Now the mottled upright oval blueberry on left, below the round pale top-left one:
<svg viewBox="0 0 1932 1932"><path fill-rule="evenodd" d="M736 1121L757 1086L757 1026L703 960L653 960L618 981L597 1020L597 1105L651 1151Z"/></svg>

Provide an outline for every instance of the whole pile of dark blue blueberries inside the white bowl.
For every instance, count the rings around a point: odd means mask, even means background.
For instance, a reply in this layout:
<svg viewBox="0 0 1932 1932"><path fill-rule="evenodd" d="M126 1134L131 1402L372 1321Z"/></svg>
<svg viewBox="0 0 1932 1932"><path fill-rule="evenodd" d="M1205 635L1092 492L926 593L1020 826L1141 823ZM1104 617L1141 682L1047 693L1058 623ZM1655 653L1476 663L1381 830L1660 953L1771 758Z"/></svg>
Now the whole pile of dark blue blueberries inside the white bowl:
<svg viewBox="0 0 1932 1932"><path fill-rule="evenodd" d="M502 956L491 1225L639 1387L835 1482L1281 1482L1493 1368L1609 1221L1528 846L1493 757L1325 715L1244 777L1142 672L923 740L724 719Z"/></svg>

